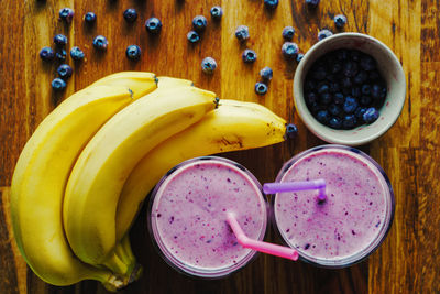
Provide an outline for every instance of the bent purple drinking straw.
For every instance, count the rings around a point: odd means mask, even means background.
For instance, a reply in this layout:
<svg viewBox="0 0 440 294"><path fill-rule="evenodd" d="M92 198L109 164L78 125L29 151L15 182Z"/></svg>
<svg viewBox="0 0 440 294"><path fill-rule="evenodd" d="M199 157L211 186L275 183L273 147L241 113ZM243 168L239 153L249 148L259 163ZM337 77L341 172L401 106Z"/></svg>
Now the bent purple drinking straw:
<svg viewBox="0 0 440 294"><path fill-rule="evenodd" d="M275 194L282 192L297 192L305 189L319 189L319 200L326 200L326 181L323 178L304 182L284 182L284 183L265 183L263 192L265 194Z"/></svg>

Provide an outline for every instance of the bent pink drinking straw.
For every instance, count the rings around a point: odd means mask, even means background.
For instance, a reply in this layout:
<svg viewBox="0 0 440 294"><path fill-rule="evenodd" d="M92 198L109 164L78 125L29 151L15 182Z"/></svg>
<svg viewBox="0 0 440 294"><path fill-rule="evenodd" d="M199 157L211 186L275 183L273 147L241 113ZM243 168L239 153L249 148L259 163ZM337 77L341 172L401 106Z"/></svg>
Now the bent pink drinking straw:
<svg viewBox="0 0 440 294"><path fill-rule="evenodd" d="M289 260L297 260L298 252L295 249L289 247L273 244L268 242L263 242L258 240L254 240L249 238L244 231L241 229L239 222L235 219L235 216L231 213L227 214L227 220L229 226L231 226L232 231L234 232L239 243L244 248L250 248L263 253L268 253L272 255L289 259Z"/></svg>

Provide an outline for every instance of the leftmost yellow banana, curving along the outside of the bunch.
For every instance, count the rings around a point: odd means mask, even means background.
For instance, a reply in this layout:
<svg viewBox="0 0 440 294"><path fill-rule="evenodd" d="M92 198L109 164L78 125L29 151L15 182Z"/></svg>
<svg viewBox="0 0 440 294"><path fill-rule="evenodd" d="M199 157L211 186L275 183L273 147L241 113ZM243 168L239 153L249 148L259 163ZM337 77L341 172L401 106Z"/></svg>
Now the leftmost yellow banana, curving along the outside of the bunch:
<svg viewBox="0 0 440 294"><path fill-rule="evenodd" d="M11 185L12 225L22 255L45 282L70 285L92 279L111 290L122 286L110 271L74 255L63 230L62 205L82 148L111 116L156 88L152 77L127 79L123 86L94 85L74 94L42 121L25 144Z"/></svg>

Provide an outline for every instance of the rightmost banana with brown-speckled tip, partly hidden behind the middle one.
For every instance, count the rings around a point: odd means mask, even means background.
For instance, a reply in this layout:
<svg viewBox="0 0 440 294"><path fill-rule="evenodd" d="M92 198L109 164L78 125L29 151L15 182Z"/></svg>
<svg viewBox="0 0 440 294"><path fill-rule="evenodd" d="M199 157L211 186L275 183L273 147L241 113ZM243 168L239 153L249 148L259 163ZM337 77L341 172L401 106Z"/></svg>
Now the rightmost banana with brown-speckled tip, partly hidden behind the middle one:
<svg viewBox="0 0 440 294"><path fill-rule="evenodd" d="M117 210L117 240L134 221L143 199L165 173L196 156L246 150L284 141L286 121L264 106L221 99L215 111L164 141L138 163L127 179Z"/></svg>

